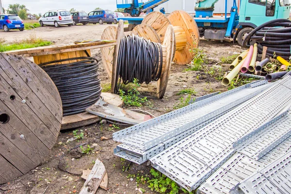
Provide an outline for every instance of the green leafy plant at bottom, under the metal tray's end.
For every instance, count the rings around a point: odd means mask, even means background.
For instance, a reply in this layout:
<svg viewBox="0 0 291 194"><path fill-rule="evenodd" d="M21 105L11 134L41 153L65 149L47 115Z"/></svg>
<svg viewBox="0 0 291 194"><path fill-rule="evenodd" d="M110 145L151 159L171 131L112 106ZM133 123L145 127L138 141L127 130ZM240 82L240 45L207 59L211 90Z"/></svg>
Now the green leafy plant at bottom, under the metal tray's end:
<svg viewBox="0 0 291 194"><path fill-rule="evenodd" d="M151 191L156 191L160 194L178 194L179 186L176 182L155 171L153 168L150 170L150 173L153 178L148 180L147 183Z"/></svg>

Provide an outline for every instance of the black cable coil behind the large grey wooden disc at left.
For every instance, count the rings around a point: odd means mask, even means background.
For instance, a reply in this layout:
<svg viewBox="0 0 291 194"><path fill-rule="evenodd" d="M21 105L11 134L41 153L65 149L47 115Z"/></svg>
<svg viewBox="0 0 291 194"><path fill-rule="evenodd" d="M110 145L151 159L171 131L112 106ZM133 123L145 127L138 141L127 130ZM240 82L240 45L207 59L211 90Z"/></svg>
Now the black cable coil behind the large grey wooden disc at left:
<svg viewBox="0 0 291 194"><path fill-rule="evenodd" d="M77 60L74 63L58 64ZM57 86L63 104L63 115L82 113L101 95L98 60L76 57L39 65Z"/></svg>

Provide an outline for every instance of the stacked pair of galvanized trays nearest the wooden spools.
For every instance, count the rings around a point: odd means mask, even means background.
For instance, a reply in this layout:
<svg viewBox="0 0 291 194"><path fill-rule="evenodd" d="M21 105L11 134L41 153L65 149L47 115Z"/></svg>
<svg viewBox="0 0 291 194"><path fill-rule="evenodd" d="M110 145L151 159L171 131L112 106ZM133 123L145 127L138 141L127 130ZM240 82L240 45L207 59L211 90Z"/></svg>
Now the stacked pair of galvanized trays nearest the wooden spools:
<svg viewBox="0 0 291 194"><path fill-rule="evenodd" d="M271 85L266 81L252 82L115 132L113 140L122 144L114 149L114 154L138 164L146 162Z"/></svg>

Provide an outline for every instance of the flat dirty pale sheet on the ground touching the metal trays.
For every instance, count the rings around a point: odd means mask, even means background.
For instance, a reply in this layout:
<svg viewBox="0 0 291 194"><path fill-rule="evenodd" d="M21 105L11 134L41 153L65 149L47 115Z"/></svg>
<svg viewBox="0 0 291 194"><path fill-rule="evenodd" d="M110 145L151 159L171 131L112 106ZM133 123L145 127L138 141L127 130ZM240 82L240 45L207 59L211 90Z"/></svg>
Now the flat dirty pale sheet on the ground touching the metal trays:
<svg viewBox="0 0 291 194"><path fill-rule="evenodd" d="M101 99L99 99L93 106L87 108L86 111L106 119L131 125L136 125L152 118L147 114L125 110L112 104L108 104Z"/></svg>

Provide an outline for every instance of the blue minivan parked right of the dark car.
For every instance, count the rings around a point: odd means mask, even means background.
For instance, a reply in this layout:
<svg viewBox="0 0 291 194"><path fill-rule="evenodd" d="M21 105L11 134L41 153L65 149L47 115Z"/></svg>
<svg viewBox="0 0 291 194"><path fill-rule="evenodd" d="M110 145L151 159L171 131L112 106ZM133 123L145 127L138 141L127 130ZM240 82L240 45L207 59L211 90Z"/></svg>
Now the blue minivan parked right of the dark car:
<svg viewBox="0 0 291 194"><path fill-rule="evenodd" d="M112 24L114 22L113 12L110 10L94 10L88 14L89 22L93 24Z"/></svg>

